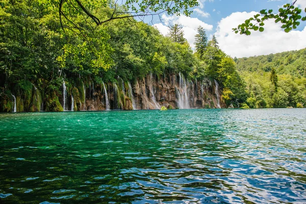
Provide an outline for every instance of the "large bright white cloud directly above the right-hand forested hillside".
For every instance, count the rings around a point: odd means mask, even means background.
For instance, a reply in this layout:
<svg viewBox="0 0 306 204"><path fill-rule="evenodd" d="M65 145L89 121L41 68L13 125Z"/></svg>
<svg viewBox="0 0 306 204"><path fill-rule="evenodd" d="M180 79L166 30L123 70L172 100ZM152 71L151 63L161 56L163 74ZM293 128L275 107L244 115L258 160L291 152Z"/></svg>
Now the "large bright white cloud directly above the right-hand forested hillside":
<svg viewBox="0 0 306 204"><path fill-rule="evenodd" d="M281 29L281 24L275 23L274 20L265 21L263 33L253 31L250 36L246 36L232 32L232 28L236 28L245 19L256 14L257 12L236 12L218 22L215 35L220 48L226 54L232 57L249 57L306 47L306 27L303 31L285 33Z"/></svg>

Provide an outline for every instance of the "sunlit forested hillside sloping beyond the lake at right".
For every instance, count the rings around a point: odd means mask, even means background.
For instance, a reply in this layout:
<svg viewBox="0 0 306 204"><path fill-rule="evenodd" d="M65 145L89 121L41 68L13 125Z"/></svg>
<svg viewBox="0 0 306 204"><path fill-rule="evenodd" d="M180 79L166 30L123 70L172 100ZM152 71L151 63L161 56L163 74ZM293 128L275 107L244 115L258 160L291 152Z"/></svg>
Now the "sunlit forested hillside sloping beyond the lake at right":
<svg viewBox="0 0 306 204"><path fill-rule="evenodd" d="M246 82L250 108L305 106L306 48L235 61Z"/></svg>

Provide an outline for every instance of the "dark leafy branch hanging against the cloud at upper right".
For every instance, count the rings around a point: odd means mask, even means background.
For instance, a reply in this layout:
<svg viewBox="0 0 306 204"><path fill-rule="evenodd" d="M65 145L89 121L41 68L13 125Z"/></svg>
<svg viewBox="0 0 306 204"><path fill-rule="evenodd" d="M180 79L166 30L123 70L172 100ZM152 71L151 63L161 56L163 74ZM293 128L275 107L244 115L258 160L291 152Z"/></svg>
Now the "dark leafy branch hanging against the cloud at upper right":
<svg viewBox="0 0 306 204"><path fill-rule="evenodd" d="M292 29L296 29L300 24L299 20L305 21L306 16L302 17L302 9L295 7L297 0L292 4L285 4L283 8L278 9L278 13L273 13L273 10L263 9L260 14L254 15L249 19L246 19L244 23L238 25L238 28L233 28L233 31L241 35L251 35L251 30L264 32L265 21L269 19L275 19L275 23L283 23L282 29L286 33L289 33ZM306 12L306 8L304 9Z"/></svg>

